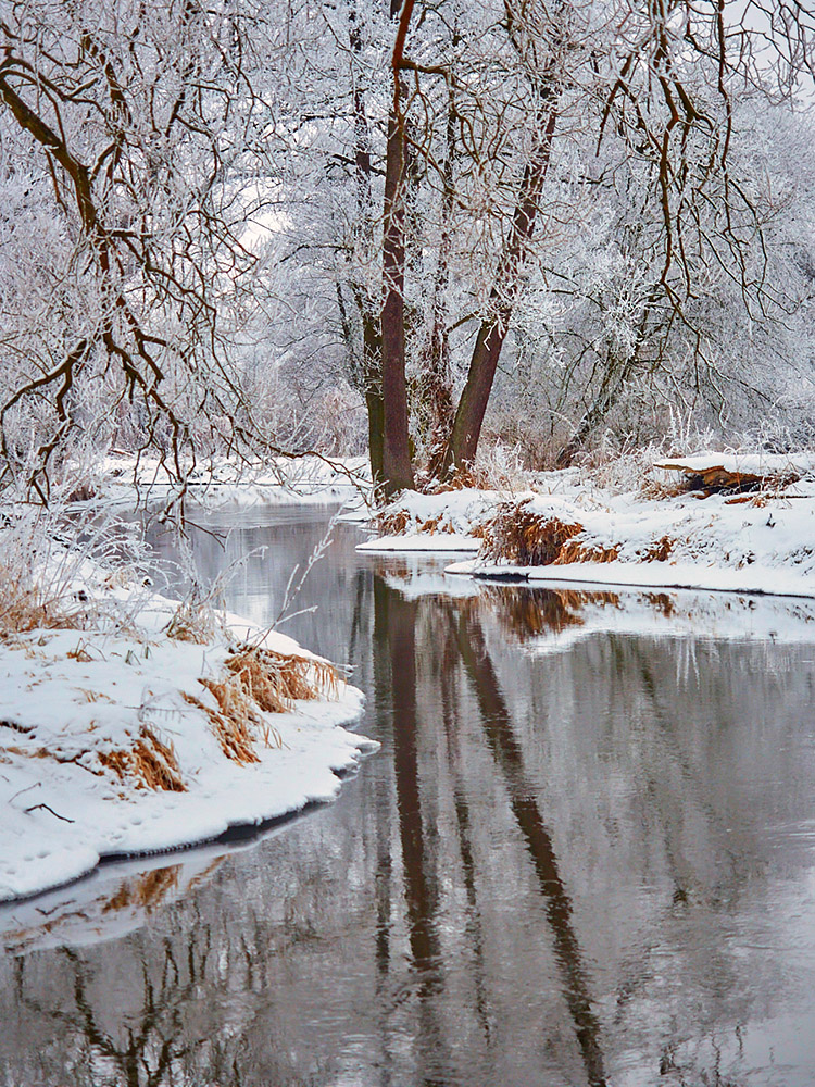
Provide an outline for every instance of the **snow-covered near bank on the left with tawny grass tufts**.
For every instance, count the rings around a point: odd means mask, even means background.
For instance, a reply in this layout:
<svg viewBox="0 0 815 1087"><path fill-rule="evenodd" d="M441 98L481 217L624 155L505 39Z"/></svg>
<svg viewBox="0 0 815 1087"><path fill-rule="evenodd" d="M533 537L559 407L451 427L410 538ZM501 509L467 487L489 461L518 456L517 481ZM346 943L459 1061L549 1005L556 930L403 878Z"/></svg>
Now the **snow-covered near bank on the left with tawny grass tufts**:
<svg viewBox="0 0 815 1087"><path fill-rule="evenodd" d="M204 645L171 637L175 607L152 597L137 624L110 622L109 609L90 628L0 639L0 901L76 879L102 857L187 846L328 800L335 771L376 747L338 727L359 716L362 696L326 662L234 617ZM268 709L258 661L264 676L298 676L296 687L280 680L281 712ZM318 697L286 697L305 685Z"/></svg>

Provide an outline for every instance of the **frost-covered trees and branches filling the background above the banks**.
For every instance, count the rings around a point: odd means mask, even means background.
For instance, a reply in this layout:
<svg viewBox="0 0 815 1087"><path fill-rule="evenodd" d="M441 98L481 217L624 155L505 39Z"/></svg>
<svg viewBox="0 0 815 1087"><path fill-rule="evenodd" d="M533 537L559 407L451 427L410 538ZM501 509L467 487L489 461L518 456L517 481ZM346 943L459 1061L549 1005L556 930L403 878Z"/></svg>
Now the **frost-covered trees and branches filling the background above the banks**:
<svg viewBox="0 0 815 1087"><path fill-rule="evenodd" d="M3 3L4 477L808 440L814 36L752 0Z"/></svg>

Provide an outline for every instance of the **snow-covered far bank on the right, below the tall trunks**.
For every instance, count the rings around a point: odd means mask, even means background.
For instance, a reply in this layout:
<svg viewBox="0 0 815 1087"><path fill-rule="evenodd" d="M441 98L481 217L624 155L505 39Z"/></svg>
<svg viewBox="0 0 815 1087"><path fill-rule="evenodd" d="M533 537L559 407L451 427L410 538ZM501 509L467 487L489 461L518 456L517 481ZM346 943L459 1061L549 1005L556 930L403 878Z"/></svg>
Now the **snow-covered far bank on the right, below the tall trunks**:
<svg viewBox="0 0 815 1087"><path fill-rule="evenodd" d="M630 479L623 489L568 470L541 474L535 490L514 495L406 493L384 518L399 530L360 549L478 547L477 558L448 569L481 577L815 596L815 459L703 453L665 463L674 470L649 466L641 480ZM682 476L713 467L766 475L766 486L738 495L672 493ZM799 478L788 482L791 475ZM521 511L540 524L560 522L577 532L551 565L502 561L494 547L487 558L482 538L502 511L510 518Z"/></svg>

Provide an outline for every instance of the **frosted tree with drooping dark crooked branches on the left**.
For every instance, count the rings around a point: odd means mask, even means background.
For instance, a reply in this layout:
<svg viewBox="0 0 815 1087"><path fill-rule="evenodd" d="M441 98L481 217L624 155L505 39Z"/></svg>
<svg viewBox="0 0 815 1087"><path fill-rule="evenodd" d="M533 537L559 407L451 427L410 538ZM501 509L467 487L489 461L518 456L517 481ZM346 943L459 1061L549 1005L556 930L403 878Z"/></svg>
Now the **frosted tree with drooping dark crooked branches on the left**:
<svg viewBox="0 0 815 1087"><path fill-rule="evenodd" d="M226 351L265 196L250 23L228 0L3 4L0 441L43 498L74 438L126 421L179 474L255 437Z"/></svg>

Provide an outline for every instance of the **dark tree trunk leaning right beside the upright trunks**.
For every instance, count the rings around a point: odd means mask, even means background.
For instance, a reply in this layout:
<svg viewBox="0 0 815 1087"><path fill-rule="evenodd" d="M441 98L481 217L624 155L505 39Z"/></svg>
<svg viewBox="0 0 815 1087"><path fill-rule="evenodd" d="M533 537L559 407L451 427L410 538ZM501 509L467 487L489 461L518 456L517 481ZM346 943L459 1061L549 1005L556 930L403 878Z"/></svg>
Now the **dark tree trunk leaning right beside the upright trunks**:
<svg viewBox="0 0 815 1087"><path fill-rule="evenodd" d="M450 472L453 466L461 468L471 464L478 448L498 360L521 289L526 251L535 232L540 193L549 168L557 123L559 97L560 92L554 86L544 89L542 93L537 115L535 149L524 170L512 229L498 264L487 315L476 337L467 380L444 455L443 473Z"/></svg>

